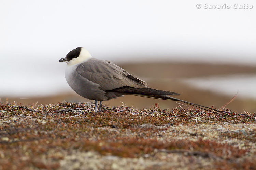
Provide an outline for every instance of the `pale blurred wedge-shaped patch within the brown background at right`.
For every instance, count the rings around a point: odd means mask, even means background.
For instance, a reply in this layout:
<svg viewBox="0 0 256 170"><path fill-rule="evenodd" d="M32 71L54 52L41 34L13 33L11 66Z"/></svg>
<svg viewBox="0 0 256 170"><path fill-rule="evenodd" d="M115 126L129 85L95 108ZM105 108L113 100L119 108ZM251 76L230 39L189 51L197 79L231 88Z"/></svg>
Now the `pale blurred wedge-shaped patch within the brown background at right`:
<svg viewBox="0 0 256 170"><path fill-rule="evenodd" d="M256 98L256 75L239 74L227 77L204 77L184 79L186 83L199 89L210 90L219 94Z"/></svg>

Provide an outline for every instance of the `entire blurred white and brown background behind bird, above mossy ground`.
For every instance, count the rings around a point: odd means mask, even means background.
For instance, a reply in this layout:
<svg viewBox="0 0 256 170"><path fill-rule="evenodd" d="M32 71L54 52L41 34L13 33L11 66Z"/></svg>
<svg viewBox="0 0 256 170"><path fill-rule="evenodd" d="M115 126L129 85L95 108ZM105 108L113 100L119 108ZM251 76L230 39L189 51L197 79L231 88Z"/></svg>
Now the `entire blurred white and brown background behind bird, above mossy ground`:
<svg viewBox="0 0 256 170"><path fill-rule="evenodd" d="M256 110L252 0L9 0L0 2L1 102L90 102L68 86L60 58L85 47L177 98ZM216 6L219 5L219 6ZM218 9L220 8L220 9ZM109 106L162 109L174 101L126 95Z"/></svg>

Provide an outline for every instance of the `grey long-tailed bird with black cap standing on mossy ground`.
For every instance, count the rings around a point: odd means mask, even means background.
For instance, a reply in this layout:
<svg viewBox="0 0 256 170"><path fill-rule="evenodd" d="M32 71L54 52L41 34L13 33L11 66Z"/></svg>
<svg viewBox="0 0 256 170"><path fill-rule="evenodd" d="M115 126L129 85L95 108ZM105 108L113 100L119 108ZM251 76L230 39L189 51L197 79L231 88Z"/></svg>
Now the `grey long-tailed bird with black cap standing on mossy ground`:
<svg viewBox="0 0 256 170"><path fill-rule="evenodd" d="M98 101L99 112L101 112L102 101L124 95L180 101L204 110L210 109L211 112L217 114L224 113L223 111L172 97L179 96L180 94L178 93L147 87L148 84L145 81L129 74L113 62L93 58L89 51L83 47L77 47L70 51L59 62L67 63L65 78L69 86L78 95L94 100L95 113L97 112Z"/></svg>

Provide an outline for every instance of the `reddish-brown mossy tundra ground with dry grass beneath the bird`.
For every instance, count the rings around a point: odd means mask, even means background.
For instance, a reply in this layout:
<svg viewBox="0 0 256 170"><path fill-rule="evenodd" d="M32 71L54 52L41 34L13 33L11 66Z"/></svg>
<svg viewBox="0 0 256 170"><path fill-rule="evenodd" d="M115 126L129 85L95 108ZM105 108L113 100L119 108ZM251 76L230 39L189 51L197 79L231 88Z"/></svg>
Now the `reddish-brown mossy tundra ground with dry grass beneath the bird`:
<svg viewBox="0 0 256 170"><path fill-rule="evenodd" d="M254 169L253 113L0 104L0 169Z"/></svg>

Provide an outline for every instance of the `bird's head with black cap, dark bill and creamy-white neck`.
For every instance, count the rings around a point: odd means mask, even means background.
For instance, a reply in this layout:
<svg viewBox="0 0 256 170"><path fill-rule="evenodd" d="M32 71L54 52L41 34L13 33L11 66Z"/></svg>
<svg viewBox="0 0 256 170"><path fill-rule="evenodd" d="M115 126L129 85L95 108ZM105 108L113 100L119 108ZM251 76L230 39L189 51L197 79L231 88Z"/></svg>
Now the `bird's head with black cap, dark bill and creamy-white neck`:
<svg viewBox="0 0 256 170"><path fill-rule="evenodd" d="M60 58L59 62L66 62L68 65L74 65L88 60L91 57L89 51L83 47L77 47L70 51L65 58Z"/></svg>

